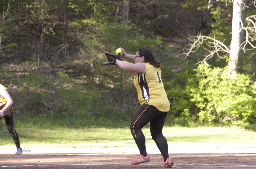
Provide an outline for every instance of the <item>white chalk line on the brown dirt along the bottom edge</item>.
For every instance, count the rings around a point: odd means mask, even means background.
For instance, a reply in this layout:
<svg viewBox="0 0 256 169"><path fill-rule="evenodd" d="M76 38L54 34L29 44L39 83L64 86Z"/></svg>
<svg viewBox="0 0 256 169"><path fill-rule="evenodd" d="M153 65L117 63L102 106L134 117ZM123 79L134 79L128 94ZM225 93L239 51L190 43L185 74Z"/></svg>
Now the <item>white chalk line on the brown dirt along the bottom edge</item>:
<svg viewBox="0 0 256 169"><path fill-rule="evenodd" d="M0 167L29 167L29 166L63 166L63 165L120 165L120 164L45 164L45 165L17 165L17 166L0 166ZM130 165L130 164L121 164ZM140 165L159 165L159 164L140 164ZM191 166L233 166L233 167L254 167L256 165L225 165L225 164L174 164L174 165L191 165Z"/></svg>

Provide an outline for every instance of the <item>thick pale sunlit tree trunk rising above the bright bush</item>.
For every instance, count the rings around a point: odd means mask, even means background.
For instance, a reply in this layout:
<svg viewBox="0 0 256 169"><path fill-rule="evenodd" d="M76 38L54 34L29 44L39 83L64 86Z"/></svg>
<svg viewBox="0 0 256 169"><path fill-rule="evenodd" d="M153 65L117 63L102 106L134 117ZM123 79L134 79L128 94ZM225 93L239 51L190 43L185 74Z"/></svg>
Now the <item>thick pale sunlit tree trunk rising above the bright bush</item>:
<svg viewBox="0 0 256 169"><path fill-rule="evenodd" d="M243 52L240 45L242 42L244 42L244 29L241 28L245 24L246 5L247 0L234 0L232 40L230 44L230 55L228 62L228 72L232 76L235 76L236 73L238 73L238 61Z"/></svg>

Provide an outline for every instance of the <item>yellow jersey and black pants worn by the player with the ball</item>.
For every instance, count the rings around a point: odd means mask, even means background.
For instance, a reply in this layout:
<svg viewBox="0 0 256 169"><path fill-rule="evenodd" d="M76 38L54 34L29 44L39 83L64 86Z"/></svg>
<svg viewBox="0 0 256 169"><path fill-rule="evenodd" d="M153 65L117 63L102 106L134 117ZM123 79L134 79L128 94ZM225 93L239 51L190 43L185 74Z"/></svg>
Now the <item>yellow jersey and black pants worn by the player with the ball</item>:
<svg viewBox="0 0 256 169"><path fill-rule="evenodd" d="M170 109L170 103L161 79L161 69L149 63L144 64L146 65L146 72L144 74L135 73L134 75L134 85L137 88L138 99L142 106L133 117L130 125L132 136L140 151L146 151L141 128L149 122L150 134L157 146L161 146L161 142L167 144L162 130L167 112ZM143 147L141 147L142 145ZM147 153L141 152L141 154ZM168 152L166 156L168 156Z"/></svg>

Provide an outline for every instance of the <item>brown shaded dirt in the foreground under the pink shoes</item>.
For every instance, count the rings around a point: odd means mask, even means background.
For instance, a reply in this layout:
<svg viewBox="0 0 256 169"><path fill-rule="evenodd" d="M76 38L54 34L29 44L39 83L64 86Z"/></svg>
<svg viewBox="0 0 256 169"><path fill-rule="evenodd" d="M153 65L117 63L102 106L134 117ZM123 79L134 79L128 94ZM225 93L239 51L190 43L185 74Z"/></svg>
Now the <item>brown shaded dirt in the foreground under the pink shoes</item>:
<svg viewBox="0 0 256 169"><path fill-rule="evenodd" d="M159 154L151 154L147 164L129 165L137 157L132 154L22 154L1 155L0 168L19 169L110 169L110 168L151 168L163 167ZM255 169L256 154L175 154L172 156L172 168L183 169Z"/></svg>

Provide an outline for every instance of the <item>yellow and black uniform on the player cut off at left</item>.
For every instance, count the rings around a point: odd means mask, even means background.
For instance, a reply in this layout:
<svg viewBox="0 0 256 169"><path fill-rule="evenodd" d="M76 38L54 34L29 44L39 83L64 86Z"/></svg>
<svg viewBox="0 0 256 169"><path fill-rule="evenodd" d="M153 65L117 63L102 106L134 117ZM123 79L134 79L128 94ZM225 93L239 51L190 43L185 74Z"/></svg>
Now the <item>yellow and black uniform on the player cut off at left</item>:
<svg viewBox="0 0 256 169"><path fill-rule="evenodd" d="M4 87L4 85L0 84L0 111L4 108L5 104L7 103L6 99L1 93L2 90L7 90L7 88ZM12 105L4 112L4 120L6 127L9 133L11 134L17 149L20 148L19 136L14 128L14 111Z"/></svg>

